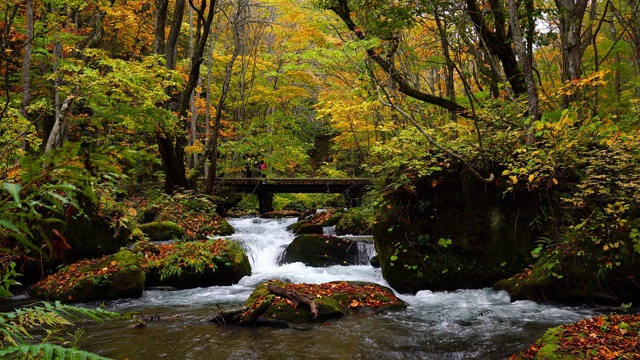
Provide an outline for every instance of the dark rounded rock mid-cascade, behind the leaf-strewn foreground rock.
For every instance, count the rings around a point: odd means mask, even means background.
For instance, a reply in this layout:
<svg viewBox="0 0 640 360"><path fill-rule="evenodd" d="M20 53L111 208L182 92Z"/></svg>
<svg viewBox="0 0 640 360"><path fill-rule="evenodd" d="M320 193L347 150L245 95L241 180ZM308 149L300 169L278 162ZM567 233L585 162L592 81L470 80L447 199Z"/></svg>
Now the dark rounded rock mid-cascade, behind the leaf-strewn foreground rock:
<svg viewBox="0 0 640 360"><path fill-rule="evenodd" d="M325 235L299 235L287 246L280 263L302 262L307 266L356 265L355 241Z"/></svg>

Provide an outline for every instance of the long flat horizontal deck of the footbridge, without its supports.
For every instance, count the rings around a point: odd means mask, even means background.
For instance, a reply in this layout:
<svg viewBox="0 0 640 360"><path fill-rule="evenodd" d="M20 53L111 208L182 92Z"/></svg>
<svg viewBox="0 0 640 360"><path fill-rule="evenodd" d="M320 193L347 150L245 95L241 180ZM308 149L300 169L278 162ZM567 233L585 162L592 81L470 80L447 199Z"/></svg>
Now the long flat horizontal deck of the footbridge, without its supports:
<svg viewBox="0 0 640 360"><path fill-rule="evenodd" d="M344 193L373 184L367 178L217 178L216 185L232 186L242 192Z"/></svg>

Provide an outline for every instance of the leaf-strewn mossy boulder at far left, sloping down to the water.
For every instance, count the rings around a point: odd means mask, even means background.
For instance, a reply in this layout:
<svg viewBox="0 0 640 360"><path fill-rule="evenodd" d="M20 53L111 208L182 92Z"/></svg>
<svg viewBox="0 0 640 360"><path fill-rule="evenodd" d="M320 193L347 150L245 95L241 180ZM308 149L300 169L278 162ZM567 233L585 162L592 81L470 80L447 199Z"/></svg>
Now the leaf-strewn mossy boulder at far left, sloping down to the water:
<svg viewBox="0 0 640 360"><path fill-rule="evenodd" d="M145 272L138 257L121 250L100 259L73 263L36 283L32 294L66 303L138 298L144 283Z"/></svg>

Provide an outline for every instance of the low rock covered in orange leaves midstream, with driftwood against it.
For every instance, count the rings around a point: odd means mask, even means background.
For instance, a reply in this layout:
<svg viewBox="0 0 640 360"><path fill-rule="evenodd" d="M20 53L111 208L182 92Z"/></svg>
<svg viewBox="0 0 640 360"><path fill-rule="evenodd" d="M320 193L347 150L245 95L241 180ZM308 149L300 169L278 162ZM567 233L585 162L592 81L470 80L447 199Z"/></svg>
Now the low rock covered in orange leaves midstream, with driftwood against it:
<svg viewBox="0 0 640 360"><path fill-rule="evenodd" d="M406 308L406 304L393 295L391 289L374 283L354 281L292 284L271 280L256 286L245 305L250 309L257 307L262 299L270 294L267 289L269 284L296 291L313 299L318 316L314 318L310 308L305 304L294 308L290 301L276 296L271 307L262 315L267 319L307 323L336 319L353 313L378 313Z"/></svg>

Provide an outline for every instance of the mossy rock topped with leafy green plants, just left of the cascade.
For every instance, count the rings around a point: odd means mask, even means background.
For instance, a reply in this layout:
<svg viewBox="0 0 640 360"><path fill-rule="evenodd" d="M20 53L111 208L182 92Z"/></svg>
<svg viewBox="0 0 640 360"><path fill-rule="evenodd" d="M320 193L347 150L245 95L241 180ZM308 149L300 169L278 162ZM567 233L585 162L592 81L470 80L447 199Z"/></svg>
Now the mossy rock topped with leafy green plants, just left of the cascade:
<svg viewBox="0 0 640 360"><path fill-rule="evenodd" d="M178 242L160 245L159 250L159 254L140 253L146 260L143 267L147 271L147 287L227 286L251 275L249 258L235 241Z"/></svg>

